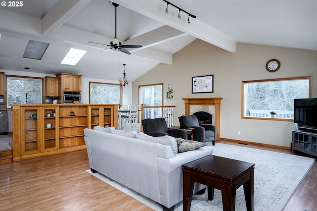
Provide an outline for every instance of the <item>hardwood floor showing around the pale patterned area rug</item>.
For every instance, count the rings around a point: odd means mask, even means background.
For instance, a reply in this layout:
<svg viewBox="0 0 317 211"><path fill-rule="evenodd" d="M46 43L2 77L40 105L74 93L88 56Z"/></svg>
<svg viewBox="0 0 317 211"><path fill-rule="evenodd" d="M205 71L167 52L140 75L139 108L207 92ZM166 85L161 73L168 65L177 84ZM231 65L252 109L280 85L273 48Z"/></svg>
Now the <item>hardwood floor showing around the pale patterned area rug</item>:
<svg viewBox="0 0 317 211"><path fill-rule="evenodd" d="M218 143L291 154L259 145ZM0 211L149 211L147 206L87 173L85 150L30 158L0 165ZM317 163L308 172L285 211L317 210Z"/></svg>

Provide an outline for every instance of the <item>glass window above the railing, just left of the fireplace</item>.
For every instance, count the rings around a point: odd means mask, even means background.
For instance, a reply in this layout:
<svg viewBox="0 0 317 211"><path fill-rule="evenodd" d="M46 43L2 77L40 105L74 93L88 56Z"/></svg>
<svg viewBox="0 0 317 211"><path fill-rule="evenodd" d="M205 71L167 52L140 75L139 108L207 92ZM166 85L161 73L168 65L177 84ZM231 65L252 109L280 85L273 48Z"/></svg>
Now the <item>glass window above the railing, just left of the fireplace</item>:
<svg viewBox="0 0 317 211"><path fill-rule="evenodd" d="M163 84L139 86L139 104L163 106Z"/></svg>

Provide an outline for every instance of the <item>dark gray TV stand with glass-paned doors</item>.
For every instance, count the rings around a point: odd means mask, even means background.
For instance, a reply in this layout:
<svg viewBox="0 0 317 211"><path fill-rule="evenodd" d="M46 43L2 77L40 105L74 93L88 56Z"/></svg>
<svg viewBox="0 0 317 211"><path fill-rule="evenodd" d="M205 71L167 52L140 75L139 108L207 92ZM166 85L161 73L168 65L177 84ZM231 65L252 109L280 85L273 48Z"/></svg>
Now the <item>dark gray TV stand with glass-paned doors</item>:
<svg viewBox="0 0 317 211"><path fill-rule="evenodd" d="M317 133L292 130L292 153L294 150L317 156Z"/></svg>

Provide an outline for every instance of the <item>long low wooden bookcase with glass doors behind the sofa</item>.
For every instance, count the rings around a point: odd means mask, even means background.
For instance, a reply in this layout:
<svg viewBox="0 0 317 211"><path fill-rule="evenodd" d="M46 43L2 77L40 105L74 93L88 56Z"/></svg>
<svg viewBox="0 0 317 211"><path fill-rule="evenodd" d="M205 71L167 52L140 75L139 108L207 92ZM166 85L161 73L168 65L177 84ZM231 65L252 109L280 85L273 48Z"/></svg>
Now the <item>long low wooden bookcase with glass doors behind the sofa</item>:
<svg viewBox="0 0 317 211"><path fill-rule="evenodd" d="M112 104L12 105L12 112L13 161L86 149L85 128L118 124Z"/></svg>

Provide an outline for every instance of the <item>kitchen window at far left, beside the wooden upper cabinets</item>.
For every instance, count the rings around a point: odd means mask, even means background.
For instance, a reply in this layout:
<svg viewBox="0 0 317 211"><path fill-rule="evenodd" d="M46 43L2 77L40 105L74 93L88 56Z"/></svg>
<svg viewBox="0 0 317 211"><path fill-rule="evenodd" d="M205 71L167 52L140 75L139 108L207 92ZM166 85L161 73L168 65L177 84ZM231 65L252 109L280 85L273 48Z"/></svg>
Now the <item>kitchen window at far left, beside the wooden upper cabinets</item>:
<svg viewBox="0 0 317 211"><path fill-rule="evenodd" d="M12 104L42 104L43 78L6 77L7 106Z"/></svg>

